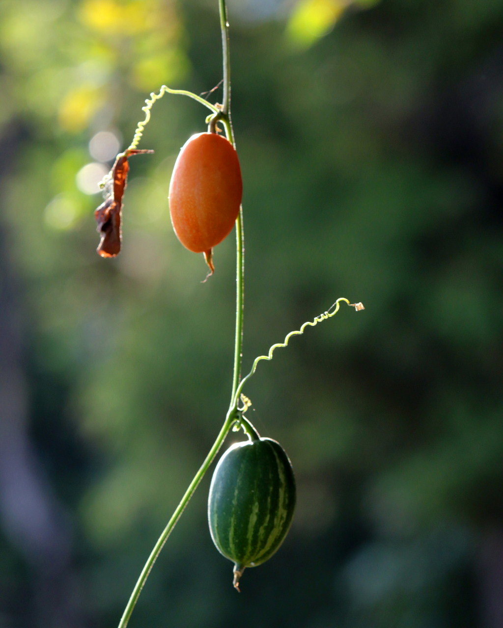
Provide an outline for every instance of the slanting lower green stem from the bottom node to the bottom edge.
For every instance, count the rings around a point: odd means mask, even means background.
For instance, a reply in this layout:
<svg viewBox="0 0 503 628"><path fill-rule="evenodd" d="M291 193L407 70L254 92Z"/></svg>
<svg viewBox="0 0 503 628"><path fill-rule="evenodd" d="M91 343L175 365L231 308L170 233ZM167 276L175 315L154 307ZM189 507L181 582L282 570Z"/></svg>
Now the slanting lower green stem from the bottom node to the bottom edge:
<svg viewBox="0 0 503 628"><path fill-rule="evenodd" d="M189 488L185 491L185 494L182 497L182 500L177 506L175 512L172 514L171 519L169 520L167 526L164 528L161 536L158 538L157 543L152 549L152 553L150 553L150 556L148 557L148 560L146 561L145 566L143 567L143 570L140 573L138 582L136 582L135 588L133 589L133 593L131 593L130 600L128 602L128 605L126 606L126 609L124 610L124 614L119 622L118 628L126 628L126 625L128 625L128 622L131 617L131 613L133 612L133 609L136 606L138 597L140 597L141 589L143 588L143 585L145 584L146 579L148 578L148 575L150 574L150 570L152 570L153 564L157 560L157 556L160 554L160 551L163 548L163 545L166 543L169 535L172 533L172 530L175 527L177 521L180 519L182 512L184 512L185 507L187 506L192 495L194 494L195 490L199 486L199 482L201 482L202 478L204 477L204 474L206 474L206 471L208 470L211 463L215 459L219 449L222 446L223 441L225 440L225 437L228 435L229 430L231 429L231 427L233 426L233 423L235 423L236 420L239 420L238 412L237 411L229 412L225 420L225 423L222 426L222 429L220 430L219 435L216 438L216 441L213 443L213 447L211 447L211 450L209 450L209 453L204 459L204 462L199 468L199 471L197 472L197 474L194 475L194 479L192 479L191 484L189 484Z"/></svg>

